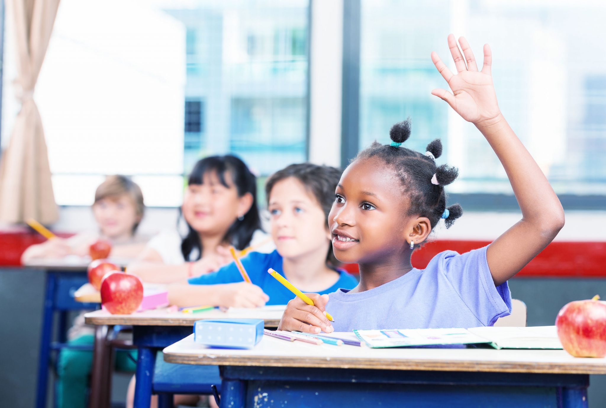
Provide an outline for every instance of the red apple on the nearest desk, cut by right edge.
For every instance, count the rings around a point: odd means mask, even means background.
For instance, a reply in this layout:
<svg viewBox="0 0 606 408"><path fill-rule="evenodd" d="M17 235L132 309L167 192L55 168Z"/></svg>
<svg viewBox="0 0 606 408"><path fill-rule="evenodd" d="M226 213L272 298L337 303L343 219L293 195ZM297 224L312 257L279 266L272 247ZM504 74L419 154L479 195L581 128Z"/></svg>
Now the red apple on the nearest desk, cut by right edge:
<svg viewBox="0 0 606 408"><path fill-rule="evenodd" d="M606 356L606 302L599 298L570 302L558 313L558 337L575 357Z"/></svg>

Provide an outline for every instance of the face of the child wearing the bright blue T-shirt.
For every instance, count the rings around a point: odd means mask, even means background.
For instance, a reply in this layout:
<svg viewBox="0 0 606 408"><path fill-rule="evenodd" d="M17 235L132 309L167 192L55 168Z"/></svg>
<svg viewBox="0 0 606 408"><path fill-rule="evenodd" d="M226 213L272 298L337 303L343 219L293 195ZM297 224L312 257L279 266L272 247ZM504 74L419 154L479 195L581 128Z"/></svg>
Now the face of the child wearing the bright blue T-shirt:
<svg viewBox="0 0 606 408"><path fill-rule="evenodd" d="M324 210L296 178L276 182L270 192L271 238L284 258L318 253L325 258L330 246Z"/></svg>

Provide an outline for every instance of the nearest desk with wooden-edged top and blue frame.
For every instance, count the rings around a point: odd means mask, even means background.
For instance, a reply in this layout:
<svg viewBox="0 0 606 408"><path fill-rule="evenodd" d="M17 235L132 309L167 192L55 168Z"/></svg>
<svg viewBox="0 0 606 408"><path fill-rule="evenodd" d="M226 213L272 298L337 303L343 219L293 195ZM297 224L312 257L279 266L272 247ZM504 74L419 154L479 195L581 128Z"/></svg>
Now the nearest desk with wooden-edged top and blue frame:
<svg viewBox="0 0 606 408"><path fill-rule="evenodd" d="M265 336L251 350L208 349L193 335L169 363L220 366L222 407L587 407L589 374L606 359L564 350L368 349ZM229 401L229 404L226 404ZM301 401L301 402L299 402Z"/></svg>

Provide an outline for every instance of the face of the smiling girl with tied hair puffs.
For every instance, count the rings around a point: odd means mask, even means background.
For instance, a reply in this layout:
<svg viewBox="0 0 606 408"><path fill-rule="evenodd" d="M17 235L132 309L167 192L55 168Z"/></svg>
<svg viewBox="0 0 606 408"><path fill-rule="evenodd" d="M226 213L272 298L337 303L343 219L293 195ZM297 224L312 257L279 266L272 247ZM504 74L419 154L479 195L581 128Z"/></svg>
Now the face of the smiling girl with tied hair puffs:
<svg viewBox="0 0 606 408"><path fill-rule="evenodd" d="M380 263L405 250L408 199L393 169L378 158L351 163L330 214L335 256L342 263ZM344 241L348 239L348 241Z"/></svg>

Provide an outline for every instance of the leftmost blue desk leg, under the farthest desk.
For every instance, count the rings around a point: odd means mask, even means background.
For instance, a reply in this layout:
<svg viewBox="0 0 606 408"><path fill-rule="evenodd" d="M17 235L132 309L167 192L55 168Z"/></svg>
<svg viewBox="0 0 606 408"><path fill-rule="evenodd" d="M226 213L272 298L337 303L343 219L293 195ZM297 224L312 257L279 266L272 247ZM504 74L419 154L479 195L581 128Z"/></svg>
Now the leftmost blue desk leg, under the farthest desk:
<svg viewBox="0 0 606 408"><path fill-rule="evenodd" d="M50 342L53 335L53 312L55 312L56 276L46 273L44 308L42 309L42 333L40 333L40 352L38 355L38 384L36 387L36 408L46 407L46 390L48 387L48 359Z"/></svg>

